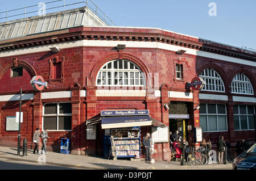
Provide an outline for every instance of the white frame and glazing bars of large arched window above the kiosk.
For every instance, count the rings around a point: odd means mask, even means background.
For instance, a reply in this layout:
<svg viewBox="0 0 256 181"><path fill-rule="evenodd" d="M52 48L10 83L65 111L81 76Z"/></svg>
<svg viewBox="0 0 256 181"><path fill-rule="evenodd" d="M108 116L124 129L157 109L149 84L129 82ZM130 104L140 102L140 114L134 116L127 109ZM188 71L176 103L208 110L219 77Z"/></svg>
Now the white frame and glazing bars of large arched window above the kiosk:
<svg viewBox="0 0 256 181"><path fill-rule="evenodd" d="M133 62L129 61L129 60L122 60L122 69L119 69L119 62L117 64L117 69L114 69L114 61L119 61L118 59L116 60L112 60L112 61L108 61L106 62L106 64L104 64L101 69L98 71L97 73L97 77L96 77L96 86L134 86L134 87L143 87L146 86L146 78L144 73L141 71L141 69L139 69L139 67L137 65L135 65ZM127 61L127 69L124 69L124 62ZM108 64L111 63L111 68L108 69ZM130 64L133 64L134 69L130 69ZM104 69L104 67L106 66L106 69ZM102 77L102 73L106 72L106 78ZM111 79L111 83L109 84L109 77L108 77L108 73L110 72L110 79ZM127 85L121 84L119 81L119 73L122 73L122 82L124 83L124 80L126 78L124 78L124 74L125 72L128 73L128 77L127 77ZM114 77L114 73L117 73L117 78ZM134 85L130 84L130 73L134 73L134 77L133 77L133 81L134 81ZM139 74L139 85L135 85L135 80L137 78L135 78L135 74L138 73ZM101 75L101 77L99 78L99 75ZM98 84L98 79L100 79L100 84ZM106 79L106 85L102 84L103 79ZM114 81L115 79L117 79L117 85L115 85ZM143 85L141 84L141 81L143 81Z"/></svg>

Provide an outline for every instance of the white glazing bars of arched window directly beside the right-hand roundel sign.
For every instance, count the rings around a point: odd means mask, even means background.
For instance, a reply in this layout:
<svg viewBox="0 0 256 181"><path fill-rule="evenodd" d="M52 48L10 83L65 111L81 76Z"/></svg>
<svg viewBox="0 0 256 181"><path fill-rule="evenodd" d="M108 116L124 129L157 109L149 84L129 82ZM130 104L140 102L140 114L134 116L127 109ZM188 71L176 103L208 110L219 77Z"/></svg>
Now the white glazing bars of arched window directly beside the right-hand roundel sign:
<svg viewBox="0 0 256 181"><path fill-rule="evenodd" d="M210 70L210 71L209 71ZM205 72L207 71L208 75L205 75ZM217 77L215 77L214 75L212 76L212 71L214 74L217 75ZM204 75L201 75L202 73L204 73ZM205 85L203 87L203 89L201 89L201 91L212 91L212 92L225 92L225 86L224 86L224 82L222 81L222 78L220 76L220 74L217 73L217 71L213 70L213 69L204 69L203 71L201 71L201 73L199 74L199 77L204 79ZM208 80L208 89L207 89L207 82ZM216 84L217 81L217 84ZM211 83L209 83L211 82ZM213 86L215 87L215 89L210 89L210 86L213 88ZM222 87L223 90L219 90L219 86ZM218 87L218 90L216 89L216 87Z"/></svg>

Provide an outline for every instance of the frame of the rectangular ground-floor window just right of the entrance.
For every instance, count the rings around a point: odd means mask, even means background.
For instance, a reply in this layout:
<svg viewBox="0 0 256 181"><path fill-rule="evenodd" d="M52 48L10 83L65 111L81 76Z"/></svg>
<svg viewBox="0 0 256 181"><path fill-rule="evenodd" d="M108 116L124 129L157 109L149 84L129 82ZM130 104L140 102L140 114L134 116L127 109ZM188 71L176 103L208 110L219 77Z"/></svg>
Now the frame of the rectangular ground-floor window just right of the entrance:
<svg viewBox="0 0 256 181"><path fill-rule="evenodd" d="M206 132L228 132L228 118L227 118L227 113L218 113L218 107L217 105L224 105L225 106L225 112L226 112L226 105L225 104L214 104L214 103L201 103L201 104L206 104L206 111L207 113L199 113L200 116L207 116L207 131L203 131L204 133ZM208 104L214 104L216 106L216 113L208 113ZM216 116L216 121L217 121L217 131L209 131L209 119L208 116ZM218 116L225 116L226 117L226 130L218 130Z"/></svg>

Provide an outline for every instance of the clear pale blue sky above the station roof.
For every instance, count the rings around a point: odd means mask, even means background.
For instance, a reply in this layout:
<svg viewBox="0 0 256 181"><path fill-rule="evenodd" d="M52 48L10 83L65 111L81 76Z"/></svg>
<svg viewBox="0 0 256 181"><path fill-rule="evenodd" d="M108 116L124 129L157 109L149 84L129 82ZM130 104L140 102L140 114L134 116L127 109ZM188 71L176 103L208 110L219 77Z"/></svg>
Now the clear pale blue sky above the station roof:
<svg viewBox="0 0 256 181"><path fill-rule="evenodd" d="M49 1L53 0L0 0L0 12ZM65 0L67 4L81 1ZM256 49L255 0L93 0L93 2L117 26L163 28L236 47ZM210 2L216 3L216 16L209 16ZM46 6L49 8L60 4L62 5L62 2ZM79 6L82 5L76 5ZM36 9L38 7L34 7L33 10ZM0 18L3 16L5 14L0 14Z"/></svg>

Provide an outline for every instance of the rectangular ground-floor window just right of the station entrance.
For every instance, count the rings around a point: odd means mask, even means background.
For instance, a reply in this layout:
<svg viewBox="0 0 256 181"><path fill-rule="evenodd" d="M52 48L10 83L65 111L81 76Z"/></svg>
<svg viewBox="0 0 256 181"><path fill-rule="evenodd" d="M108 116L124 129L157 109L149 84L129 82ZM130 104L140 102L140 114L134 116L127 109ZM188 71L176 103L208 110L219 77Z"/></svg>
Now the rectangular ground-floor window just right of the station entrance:
<svg viewBox="0 0 256 181"><path fill-rule="evenodd" d="M200 127L204 132L227 131L224 104L200 104Z"/></svg>

